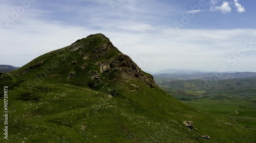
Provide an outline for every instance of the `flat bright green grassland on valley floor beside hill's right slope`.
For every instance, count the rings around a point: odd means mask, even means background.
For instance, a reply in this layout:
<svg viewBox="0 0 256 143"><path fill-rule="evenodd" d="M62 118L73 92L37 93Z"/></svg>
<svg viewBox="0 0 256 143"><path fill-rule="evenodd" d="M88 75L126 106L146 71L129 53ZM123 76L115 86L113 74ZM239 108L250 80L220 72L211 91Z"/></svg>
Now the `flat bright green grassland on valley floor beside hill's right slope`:
<svg viewBox="0 0 256 143"><path fill-rule="evenodd" d="M256 106L251 102L241 100L220 101L206 98L202 100L186 101L186 103L202 112L228 115L240 125L256 130Z"/></svg>

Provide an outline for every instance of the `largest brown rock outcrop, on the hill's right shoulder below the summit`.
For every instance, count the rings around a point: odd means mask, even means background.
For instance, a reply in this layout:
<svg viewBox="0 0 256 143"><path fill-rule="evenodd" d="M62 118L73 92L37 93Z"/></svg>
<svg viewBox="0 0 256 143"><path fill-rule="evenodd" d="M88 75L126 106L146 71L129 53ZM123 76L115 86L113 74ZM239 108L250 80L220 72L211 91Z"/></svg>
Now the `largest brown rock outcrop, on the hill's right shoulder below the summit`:
<svg viewBox="0 0 256 143"><path fill-rule="evenodd" d="M141 69L125 54L118 54L109 61L100 65L101 73L120 70L123 79L139 78L141 81L150 85L151 88L156 87L156 83L152 75L144 74Z"/></svg>

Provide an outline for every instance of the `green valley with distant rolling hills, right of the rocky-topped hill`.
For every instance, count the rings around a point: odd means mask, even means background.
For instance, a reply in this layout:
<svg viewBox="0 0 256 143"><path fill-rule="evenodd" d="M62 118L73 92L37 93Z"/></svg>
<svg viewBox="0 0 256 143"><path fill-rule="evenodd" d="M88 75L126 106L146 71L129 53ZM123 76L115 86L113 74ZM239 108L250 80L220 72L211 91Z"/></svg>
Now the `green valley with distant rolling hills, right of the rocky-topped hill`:
<svg viewBox="0 0 256 143"><path fill-rule="evenodd" d="M256 78L180 80L154 75L159 87L199 111L227 115L256 130Z"/></svg>

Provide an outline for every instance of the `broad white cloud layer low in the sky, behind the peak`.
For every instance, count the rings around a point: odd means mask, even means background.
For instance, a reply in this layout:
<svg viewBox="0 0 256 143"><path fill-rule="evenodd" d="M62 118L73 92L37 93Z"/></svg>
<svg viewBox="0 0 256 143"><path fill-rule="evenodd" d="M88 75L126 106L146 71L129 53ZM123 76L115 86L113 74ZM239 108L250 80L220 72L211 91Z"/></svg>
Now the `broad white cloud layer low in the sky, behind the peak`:
<svg viewBox="0 0 256 143"><path fill-rule="evenodd" d="M0 64L23 66L41 54L95 33L109 37L120 51L137 64L141 56L146 55L151 61L141 67L145 71L156 72L166 68L218 71L224 64L230 71L241 71L239 63L253 65L256 61L255 56L247 54L235 66L226 60L233 52L243 48L245 39L256 37L256 30L181 29L178 32L169 26L124 21L95 31L82 26L56 25L52 21L23 20L29 22L13 25L11 30L0 27L0 42L3 45ZM253 66L246 70L256 71Z"/></svg>

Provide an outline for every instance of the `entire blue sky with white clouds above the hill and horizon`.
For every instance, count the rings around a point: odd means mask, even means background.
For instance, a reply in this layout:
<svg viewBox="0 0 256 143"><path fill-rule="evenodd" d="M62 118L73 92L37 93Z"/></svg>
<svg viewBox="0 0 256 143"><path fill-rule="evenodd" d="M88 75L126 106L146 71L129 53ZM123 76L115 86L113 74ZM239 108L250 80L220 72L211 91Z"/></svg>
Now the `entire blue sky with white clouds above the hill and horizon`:
<svg viewBox="0 0 256 143"><path fill-rule="evenodd" d="M144 71L256 72L254 0L1 0L0 64L102 33Z"/></svg>

